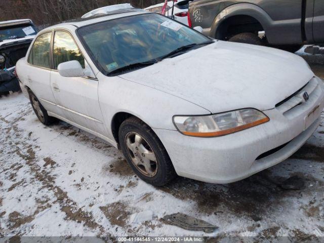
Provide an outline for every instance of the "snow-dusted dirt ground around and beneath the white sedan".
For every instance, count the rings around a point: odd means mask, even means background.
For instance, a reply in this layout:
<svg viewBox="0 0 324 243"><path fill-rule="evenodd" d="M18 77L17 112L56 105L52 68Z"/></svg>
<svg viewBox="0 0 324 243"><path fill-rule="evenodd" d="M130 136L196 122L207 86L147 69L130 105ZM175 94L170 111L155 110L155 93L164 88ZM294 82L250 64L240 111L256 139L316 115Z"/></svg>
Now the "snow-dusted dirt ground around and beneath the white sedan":
<svg viewBox="0 0 324 243"><path fill-rule="evenodd" d="M303 58L324 78L323 56ZM22 94L0 99L0 131L0 237L324 237L324 120L291 158L246 180L178 178L161 188L139 180L101 139L63 121L43 126ZM302 189L280 186L292 176ZM161 220L178 212L219 228L189 231Z"/></svg>

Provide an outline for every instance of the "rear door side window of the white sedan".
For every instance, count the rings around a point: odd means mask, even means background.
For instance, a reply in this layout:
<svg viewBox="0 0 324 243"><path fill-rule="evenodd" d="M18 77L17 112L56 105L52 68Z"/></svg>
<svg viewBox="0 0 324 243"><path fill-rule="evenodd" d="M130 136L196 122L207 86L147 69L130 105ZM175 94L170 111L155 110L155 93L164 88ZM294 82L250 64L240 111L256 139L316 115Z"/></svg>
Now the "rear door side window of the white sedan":
<svg viewBox="0 0 324 243"><path fill-rule="evenodd" d="M31 49L28 63L38 66L51 68L50 49L52 32L39 35Z"/></svg>

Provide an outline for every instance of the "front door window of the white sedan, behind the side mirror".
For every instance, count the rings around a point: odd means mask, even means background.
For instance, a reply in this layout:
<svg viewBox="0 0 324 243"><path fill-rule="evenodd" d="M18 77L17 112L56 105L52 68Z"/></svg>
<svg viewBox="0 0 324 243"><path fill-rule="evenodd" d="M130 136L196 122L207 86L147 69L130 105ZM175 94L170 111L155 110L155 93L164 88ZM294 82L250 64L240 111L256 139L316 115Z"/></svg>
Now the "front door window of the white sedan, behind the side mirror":
<svg viewBox="0 0 324 243"><path fill-rule="evenodd" d="M53 50L54 68L62 62L76 60L85 68L85 58L76 46L72 36L65 31L56 31Z"/></svg>

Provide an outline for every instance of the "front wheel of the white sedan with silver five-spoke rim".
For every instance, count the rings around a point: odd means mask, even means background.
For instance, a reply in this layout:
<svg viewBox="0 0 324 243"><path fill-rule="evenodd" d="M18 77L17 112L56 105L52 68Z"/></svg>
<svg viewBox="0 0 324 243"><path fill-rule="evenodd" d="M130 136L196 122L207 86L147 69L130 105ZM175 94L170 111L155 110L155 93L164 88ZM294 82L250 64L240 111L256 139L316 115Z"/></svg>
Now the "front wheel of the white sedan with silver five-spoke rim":
<svg viewBox="0 0 324 243"><path fill-rule="evenodd" d="M142 120L126 119L120 125L118 137L128 164L143 181L163 186L176 177L167 150Z"/></svg>

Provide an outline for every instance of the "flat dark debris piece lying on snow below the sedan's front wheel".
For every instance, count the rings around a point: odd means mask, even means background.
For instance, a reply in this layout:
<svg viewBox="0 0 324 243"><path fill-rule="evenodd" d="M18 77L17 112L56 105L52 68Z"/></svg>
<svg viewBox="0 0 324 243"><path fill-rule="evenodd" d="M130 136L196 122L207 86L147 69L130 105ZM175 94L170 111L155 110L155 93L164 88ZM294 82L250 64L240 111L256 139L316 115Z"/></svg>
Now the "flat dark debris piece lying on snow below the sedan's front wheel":
<svg viewBox="0 0 324 243"><path fill-rule="evenodd" d="M204 231L206 233L212 233L218 229L217 226L212 225L204 220L196 219L182 213L166 215L163 217L163 220L170 225L175 225L183 229Z"/></svg>

